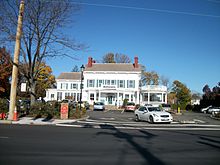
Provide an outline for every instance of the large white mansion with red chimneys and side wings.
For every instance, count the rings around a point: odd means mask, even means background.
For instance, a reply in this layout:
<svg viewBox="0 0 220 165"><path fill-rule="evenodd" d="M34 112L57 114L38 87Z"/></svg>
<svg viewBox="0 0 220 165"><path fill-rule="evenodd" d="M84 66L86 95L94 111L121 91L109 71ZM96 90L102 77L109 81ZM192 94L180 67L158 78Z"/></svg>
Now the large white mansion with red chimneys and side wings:
<svg viewBox="0 0 220 165"><path fill-rule="evenodd" d="M47 89L46 101L80 100L81 72L61 73L56 79L57 88ZM83 71L82 101L89 104L101 101L105 105L123 104L128 99L136 104L159 105L167 103L165 86L140 86L141 65L138 57L131 63L95 63L91 57Z"/></svg>

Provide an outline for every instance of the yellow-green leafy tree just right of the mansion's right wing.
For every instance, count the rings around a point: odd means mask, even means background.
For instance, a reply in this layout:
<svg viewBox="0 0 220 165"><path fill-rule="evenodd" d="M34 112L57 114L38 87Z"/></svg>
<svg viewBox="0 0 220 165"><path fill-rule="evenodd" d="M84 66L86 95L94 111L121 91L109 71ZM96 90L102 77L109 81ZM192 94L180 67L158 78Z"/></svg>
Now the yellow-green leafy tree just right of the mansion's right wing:
<svg viewBox="0 0 220 165"><path fill-rule="evenodd" d="M172 92L176 94L176 101L182 109L185 109L187 104L191 102L191 91L186 85L178 80L173 82Z"/></svg>

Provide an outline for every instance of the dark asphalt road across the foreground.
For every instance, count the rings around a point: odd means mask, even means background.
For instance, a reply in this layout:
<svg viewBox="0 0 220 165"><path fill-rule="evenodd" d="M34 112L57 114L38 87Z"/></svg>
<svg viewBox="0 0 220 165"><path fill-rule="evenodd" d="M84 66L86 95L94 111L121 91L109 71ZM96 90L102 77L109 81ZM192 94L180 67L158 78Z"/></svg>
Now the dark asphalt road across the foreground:
<svg viewBox="0 0 220 165"><path fill-rule="evenodd" d="M219 165L220 131L0 125L0 164Z"/></svg>

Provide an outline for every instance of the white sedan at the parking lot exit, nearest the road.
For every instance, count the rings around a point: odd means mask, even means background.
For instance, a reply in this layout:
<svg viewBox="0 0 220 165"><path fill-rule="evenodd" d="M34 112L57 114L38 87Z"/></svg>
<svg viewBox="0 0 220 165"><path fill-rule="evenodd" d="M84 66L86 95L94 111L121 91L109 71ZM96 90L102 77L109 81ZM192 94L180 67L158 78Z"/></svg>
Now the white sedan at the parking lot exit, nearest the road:
<svg viewBox="0 0 220 165"><path fill-rule="evenodd" d="M150 123L171 123L173 121L172 115L161 111L159 107L140 107L134 113L136 121L144 120Z"/></svg>

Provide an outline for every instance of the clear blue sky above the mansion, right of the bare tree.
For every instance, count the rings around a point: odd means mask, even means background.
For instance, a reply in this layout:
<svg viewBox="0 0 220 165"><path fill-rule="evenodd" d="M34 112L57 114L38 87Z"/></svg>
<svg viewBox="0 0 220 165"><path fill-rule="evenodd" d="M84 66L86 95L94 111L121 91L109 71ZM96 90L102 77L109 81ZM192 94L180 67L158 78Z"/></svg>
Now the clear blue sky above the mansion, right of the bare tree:
<svg viewBox="0 0 220 165"><path fill-rule="evenodd" d="M220 82L220 0L71 0L81 10L65 33L89 46L76 60L48 61L53 74L109 53L139 58L146 71L202 93Z"/></svg>

